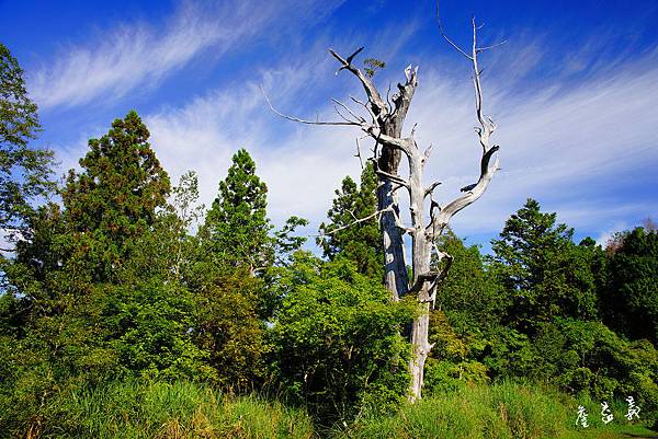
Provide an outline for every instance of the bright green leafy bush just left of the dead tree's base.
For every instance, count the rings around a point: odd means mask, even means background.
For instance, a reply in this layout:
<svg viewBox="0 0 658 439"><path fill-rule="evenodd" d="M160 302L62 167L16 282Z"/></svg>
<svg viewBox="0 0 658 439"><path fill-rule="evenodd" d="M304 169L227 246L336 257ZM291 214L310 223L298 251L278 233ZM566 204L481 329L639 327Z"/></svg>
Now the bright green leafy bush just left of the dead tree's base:
<svg viewBox="0 0 658 439"><path fill-rule="evenodd" d="M344 259L299 254L271 330L282 390L322 421L387 412L408 388L409 346L399 335L413 307L389 303L378 281Z"/></svg>

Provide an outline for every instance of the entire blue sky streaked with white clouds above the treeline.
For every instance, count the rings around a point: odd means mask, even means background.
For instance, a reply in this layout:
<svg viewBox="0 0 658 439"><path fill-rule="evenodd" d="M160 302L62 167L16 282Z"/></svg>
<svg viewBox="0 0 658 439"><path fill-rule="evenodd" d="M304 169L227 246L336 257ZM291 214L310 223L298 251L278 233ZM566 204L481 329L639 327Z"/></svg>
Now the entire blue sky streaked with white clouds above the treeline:
<svg viewBox="0 0 658 439"><path fill-rule="evenodd" d="M60 172L87 140L137 109L175 180L200 174L209 205L231 154L247 148L270 188L270 215L308 218L317 230L333 189L358 176L358 132L308 127L282 111L330 118L331 97L361 93L334 76L327 49L387 62L382 89L419 66L407 118L433 143L428 181L450 200L478 170L469 66L439 36L433 1L0 1L0 41L19 59L39 106L39 145ZM469 18L485 42L485 112L498 124L502 170L455 231L487 243L527 197L578 235L601 242L658 218L658 3L634 1L442 1L446 31L469 44ZM485 245L487 246L487 245Z"/></svg>

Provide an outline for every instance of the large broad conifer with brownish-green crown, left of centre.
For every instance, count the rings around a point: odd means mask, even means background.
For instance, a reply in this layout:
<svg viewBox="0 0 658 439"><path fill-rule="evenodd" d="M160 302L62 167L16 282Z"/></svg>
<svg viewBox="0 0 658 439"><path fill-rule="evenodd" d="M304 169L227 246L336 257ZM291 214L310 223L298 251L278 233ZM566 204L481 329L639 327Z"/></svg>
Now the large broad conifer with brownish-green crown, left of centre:
<svg viewBox="0 0 658 439"><path fill-rule="evenodd" d="M120 270L164 207L169 176L148 143L149 131L136 112L112 123L69 171L63 193L73 261L93 280L120 280Z"/></svg>

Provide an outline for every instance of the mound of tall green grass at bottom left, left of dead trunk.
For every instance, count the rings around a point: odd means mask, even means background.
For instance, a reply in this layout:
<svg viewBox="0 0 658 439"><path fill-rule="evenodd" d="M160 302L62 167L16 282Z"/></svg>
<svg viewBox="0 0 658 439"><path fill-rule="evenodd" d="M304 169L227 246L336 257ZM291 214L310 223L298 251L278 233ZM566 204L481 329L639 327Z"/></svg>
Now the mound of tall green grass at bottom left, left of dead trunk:
<svg viewBox="0 0 658 439"><path fill-rule="evenodd" d="M49 403L38 431L34 426L32 431L35 437L99 439L314 436L303 411L189 382L121 382L67 392Z"/></svg>

